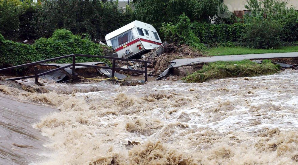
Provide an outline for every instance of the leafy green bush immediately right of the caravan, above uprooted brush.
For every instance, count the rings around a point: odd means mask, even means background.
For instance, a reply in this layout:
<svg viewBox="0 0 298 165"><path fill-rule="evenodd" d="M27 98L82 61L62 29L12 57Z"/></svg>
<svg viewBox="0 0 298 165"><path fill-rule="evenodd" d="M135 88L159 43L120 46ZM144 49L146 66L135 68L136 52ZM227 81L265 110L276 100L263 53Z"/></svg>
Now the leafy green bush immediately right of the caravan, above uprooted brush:
<svg viewBox="0 0 298 165"><path fill-rule="evenodd" d="M190 19L185 15L179 16L177 24L163 24L160 31L164 34L165 40L170 43L187 44L195 49L203 49L204 45L190 28Z"/></svg>

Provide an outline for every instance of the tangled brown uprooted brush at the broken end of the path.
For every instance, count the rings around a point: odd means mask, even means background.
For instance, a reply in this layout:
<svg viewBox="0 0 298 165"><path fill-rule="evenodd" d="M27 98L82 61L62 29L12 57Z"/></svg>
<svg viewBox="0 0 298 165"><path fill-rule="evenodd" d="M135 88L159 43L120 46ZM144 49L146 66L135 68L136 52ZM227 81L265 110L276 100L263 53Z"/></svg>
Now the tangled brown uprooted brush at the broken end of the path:
<svg viewBox="0 0 298 165"><path fill-rule="evenodd" d="M186 44L167 44L164 46L164 53L158 58L154 58L153 66L155 70L165 70L170 61L179 58L192 58L204 56L204 52L194 49Z"/></svg>

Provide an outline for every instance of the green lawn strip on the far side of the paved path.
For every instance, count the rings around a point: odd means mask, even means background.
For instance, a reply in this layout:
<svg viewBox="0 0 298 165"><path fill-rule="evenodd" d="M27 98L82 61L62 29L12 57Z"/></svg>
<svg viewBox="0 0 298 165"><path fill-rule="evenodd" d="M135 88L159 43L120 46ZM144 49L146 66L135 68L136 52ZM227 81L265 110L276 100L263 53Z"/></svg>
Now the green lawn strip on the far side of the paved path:
<svg viewBox="0 0 298 165"><path fill-rule="evenodd" d="M253 49L247 47L212 47L207 50L207 55L241 55L260 53L288 53L298 52L298 46L287 46L280 49Z"/></svg>

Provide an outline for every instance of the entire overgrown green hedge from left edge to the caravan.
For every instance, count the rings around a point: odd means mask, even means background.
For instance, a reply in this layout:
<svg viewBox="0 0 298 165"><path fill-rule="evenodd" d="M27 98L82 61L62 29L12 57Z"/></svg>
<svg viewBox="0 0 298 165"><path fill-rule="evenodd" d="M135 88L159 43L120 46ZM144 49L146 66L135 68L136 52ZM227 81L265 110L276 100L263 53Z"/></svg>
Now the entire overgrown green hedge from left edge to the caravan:
<svg viewBox="0 0 298 165"><path fill-rule="evenodd" d="M29 62L59 57L72 53L104 55L111 48L96 44L90 38L82 38L65 29L56 30L50 38L40 38L33 45L5 40L0 33L0 68ZM102 61L110 64L108 59L77 57L76 62ZM65 58L57 63L72 63L71 58Z"/></svg>

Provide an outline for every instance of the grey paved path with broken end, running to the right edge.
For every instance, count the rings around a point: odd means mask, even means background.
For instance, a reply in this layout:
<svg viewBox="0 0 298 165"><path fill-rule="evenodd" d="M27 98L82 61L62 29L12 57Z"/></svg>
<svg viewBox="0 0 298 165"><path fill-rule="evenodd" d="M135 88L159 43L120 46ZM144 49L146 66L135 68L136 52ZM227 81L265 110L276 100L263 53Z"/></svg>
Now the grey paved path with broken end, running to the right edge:
<svg viewBox="0 0 298 165"><path fill-rule="evenodd" d="M187 65L195 65L216 61L241 61L246 59L268 59L268 58L287 58L298 57L298 52L293 53L265 53L265 54L246 54L246 55L220 55L198 58L184 58L171 61L173 68L178 68Z"/></svg>

